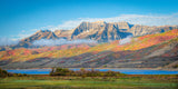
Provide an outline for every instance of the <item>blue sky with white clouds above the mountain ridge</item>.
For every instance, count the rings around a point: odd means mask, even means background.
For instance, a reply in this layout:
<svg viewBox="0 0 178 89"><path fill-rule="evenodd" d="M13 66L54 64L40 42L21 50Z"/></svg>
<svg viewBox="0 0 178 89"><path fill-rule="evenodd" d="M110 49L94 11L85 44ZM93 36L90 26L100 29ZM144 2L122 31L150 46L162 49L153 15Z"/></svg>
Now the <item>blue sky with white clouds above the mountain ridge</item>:
<svg viewBox="0 0 178 89"><path fill-rule="evenodd" d="M70 30L82 21L178 24L177 3L177 0L0 0L0 39L19 40L40 29Z"/></svg>

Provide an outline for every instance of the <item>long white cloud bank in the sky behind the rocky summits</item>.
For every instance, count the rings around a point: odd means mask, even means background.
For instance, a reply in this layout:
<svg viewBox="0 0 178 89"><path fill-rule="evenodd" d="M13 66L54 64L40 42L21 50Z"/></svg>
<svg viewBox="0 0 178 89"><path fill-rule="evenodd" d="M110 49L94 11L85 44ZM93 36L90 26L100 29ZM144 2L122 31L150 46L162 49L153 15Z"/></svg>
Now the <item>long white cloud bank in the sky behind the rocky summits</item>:
<svg viewBox="0 0 178 89"><path fill-rule="evenodd" d="M65 21L63 23L55 28L51 28L51 29L52 30L56 30L56 29L70 30L70 29L78 27L82 21L95 22L99 20L102 20L106 22L127 21L132 24L144 24L144 26L166 26L166 24L171 26L171 24L178 24L178 13L174 13L170 16L121 14L121 16L112 17L112 18L78 18L76 20Z"/></svg>

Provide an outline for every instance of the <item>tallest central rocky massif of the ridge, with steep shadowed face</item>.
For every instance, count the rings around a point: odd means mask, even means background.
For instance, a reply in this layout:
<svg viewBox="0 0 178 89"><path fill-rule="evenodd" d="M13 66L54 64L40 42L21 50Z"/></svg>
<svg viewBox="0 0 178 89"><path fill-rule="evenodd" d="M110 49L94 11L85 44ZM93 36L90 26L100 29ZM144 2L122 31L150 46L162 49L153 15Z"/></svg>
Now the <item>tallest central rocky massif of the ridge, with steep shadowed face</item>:
<svg viewBox="0 0 178 89"><path fill-rule="evenodd" d="M118 27L119 23L106 23L105 21L82 22L73 30L71 39L92 39L99 42L108 42L111 40L119 40L131 34L129 32L122 32ZM129 27L126 23L120 28Z"/></svg>

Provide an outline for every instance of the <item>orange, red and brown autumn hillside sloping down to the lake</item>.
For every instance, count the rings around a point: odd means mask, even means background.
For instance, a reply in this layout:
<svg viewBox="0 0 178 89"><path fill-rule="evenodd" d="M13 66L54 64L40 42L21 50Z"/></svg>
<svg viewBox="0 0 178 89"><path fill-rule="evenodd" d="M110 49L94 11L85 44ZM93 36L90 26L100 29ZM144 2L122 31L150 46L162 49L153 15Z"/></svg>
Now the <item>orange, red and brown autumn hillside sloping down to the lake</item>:
<svg viewBox="0 0 178 89"><path fill-rule="evenodd" d="M17 68L176 68L178 29L97 46L57 46L0 51L0 67Z"/></svg>

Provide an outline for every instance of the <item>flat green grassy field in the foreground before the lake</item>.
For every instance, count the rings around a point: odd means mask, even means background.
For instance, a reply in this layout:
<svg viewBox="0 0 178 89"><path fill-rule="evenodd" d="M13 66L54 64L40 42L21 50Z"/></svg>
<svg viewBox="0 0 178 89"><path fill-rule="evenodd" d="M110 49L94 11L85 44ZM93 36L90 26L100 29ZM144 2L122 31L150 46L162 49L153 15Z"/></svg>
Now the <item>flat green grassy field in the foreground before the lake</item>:
<svg viewBox="0 0 178 89"><path fill-rule="evenodd" d="M178 89L178 77L7 77L0 79L0 89Z"/></svg>

